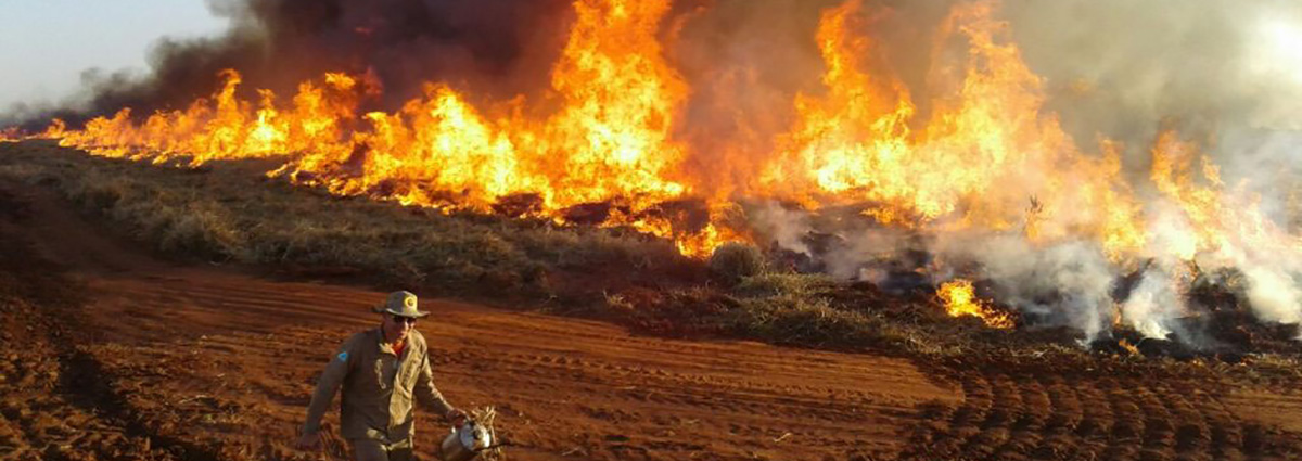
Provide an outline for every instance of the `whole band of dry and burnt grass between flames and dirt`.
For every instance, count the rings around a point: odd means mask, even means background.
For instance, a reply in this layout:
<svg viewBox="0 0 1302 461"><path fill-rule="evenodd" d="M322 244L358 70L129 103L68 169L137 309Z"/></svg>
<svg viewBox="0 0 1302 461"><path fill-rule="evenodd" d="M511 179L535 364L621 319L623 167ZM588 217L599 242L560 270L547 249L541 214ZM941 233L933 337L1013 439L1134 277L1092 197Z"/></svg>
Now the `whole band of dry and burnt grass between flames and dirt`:
<svg viewBox="0 0 1302 461"><path fill-rule="evenodd" d="M0 180L52 190L89 220L156 257L268 277L414 289L596 318L658 336L871 350L913 358L939 376L982 367L1048 367L1042 371L1164 370L1279 385L1302 378L1295 326L1258 324L1238 296L1216 288L1194 293L1208 307L1190 320L1198 327L1191 331L1207 332L1199 342L1211 346L1193 349L1184 345L1187 339L1176 337L1144 340L1125 329L1082 346L1081 333L1065 328L1025 322L999 331L975 318L950 318L928 286L888 293L870 283L773 270L763 259L780 255L754 249L758 257L745 258L762 260L715 260L711 267L633 229L521 217L526 214L517 208L529 203L443 212L339 197L267 177L281 160L193 168L185 159L108 159L27 141L0 143ZM691 217L665 210L676 212Z"/></svg>

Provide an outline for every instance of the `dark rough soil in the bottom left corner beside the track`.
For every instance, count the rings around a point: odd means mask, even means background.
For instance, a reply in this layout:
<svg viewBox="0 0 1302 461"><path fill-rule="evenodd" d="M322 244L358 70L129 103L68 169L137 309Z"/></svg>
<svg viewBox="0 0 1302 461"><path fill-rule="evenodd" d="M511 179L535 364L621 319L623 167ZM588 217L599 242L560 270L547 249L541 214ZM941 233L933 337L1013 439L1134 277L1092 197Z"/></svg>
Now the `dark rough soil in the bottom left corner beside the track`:
<svg viewBox="0 0 1302 461"><path fill-rule="evenodd" d="M78 340L77 284L22 236L30 210L0 182L0 460L214 460L143 425Z"/></svg>

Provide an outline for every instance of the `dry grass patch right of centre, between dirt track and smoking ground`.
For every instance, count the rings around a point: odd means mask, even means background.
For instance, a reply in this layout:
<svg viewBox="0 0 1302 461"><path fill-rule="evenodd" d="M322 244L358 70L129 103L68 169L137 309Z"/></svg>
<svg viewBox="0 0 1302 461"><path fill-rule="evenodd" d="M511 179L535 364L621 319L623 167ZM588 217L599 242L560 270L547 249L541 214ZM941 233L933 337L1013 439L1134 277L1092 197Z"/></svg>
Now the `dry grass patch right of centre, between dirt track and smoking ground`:
<svg viewBox="0 0 1302 461"><path fill-rule="evenodd" d="M617 322L667 336L717 336L835 350L950 358L1006 344L979 320L949 318L919 300L863 292L824 275L766 272L730 288L607 294ZM928 315L934 311L934 315Z"/></svg>

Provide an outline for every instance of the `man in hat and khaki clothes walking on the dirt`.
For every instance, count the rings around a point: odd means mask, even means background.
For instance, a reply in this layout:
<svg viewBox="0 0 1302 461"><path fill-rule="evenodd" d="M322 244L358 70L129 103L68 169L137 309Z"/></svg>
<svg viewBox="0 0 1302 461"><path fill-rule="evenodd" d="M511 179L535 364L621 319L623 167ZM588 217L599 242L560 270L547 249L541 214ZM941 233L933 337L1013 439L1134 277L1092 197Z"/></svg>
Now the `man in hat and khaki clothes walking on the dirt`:
<svg viewBox="0 0 1302 461"><path fill-rule="evenodd" d="M411 458L413 397L461 426L466 414L443 400L434 387L430 353L415 320L430 315L417 309L409 292L389 293L380 328L349 337L331 357L316 392L307 405L307 422L298 439L299 449L320 449L320 421L340 385L340 432L358 461Z"/></svg>

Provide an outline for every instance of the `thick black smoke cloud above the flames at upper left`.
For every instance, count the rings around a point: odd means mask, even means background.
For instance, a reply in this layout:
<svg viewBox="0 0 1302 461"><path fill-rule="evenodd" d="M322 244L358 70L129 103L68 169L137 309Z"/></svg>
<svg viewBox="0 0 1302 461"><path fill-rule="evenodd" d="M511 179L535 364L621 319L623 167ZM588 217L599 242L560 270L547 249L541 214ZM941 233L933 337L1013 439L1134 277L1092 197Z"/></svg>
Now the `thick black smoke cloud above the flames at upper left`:
<svg viewBox="0 0 1302 461"><path fill-rule="evenodd" d="M573 20L562 0L208 0L208 8L229 18L223 35L161 38L147 73L89 69L79 94L59 107L7 108L0 124L30 132L53 117L77 126L122 107L135 116L185 108L220 87L223 69L242 74L249 98L256 89L289 98L326 72L378 77L383 96L367 109L395 109L430 81L509 98L547 85Z"/></svg>

